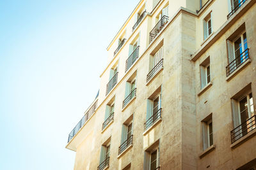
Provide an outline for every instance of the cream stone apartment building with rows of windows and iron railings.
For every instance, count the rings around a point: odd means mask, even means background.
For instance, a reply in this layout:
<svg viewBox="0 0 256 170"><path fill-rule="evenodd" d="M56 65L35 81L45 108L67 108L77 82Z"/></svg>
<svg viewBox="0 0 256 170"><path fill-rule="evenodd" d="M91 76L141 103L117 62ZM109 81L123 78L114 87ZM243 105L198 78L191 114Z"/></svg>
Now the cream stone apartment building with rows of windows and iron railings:
<svg viewBox="0 0 256 170"><path fill-rule="evenodd" d="M74 169L256 169L255 39L255 0L141 0L68 136Z"/></svg>

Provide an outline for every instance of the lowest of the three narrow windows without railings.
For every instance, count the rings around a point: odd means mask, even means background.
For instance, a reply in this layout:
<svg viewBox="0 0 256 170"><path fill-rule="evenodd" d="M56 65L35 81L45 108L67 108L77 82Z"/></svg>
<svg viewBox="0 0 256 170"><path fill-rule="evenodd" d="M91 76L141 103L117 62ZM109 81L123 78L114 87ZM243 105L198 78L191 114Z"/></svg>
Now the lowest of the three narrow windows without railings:
<svg viewBox="0 0 256 170"><path fill-rule="evenodd" d="M204 150L213 145L212 114L202 120L203 148Z"/></svg>

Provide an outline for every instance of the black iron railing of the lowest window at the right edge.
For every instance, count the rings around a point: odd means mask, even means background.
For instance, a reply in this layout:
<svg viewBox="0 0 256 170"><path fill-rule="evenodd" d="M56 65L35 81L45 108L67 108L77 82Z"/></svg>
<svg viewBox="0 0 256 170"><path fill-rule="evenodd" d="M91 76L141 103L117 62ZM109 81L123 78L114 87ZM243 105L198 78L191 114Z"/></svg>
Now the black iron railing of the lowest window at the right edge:
<svg viewBox="0 0 256 170"><path fill-rule="evenodd" d="M235 129L233 129L230 134L231 134L231 143L234 143L238 139L242 138L248 132L253 131L255 129L256 124L255 124L255 118L256 116L254 115L251 118L248 118L246 122L243 122L241 125L237 126Z"/></svg>

